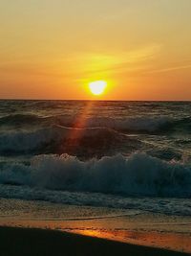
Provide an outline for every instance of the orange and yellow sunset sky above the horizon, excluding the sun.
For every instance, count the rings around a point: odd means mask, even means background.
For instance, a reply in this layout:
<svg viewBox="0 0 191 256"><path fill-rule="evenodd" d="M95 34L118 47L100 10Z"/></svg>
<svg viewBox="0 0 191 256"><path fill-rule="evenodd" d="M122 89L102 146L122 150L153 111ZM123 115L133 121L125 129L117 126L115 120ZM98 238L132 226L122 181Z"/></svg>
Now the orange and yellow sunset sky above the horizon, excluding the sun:
<svg viewBox="0 0 191 256"><path fill-rule="evenodd" d="M190 0L0 0L0 98L191 100L190 13Z"/></svg>

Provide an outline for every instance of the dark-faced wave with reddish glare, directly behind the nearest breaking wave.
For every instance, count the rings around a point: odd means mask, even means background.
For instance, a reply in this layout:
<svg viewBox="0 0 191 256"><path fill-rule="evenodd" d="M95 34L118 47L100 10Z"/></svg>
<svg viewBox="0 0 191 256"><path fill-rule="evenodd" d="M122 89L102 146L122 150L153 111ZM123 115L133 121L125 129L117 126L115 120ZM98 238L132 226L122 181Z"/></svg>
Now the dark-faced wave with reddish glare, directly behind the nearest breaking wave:
<svg viewBox="0 0 191 256"><path fill-rule="evenodd" d="M1 153L27 152L76 152L83 149L108 151L117 144L127 143L134 149L140 145L138 139L111 128L64 128L53 126L34 131L8 131L0 134ZM86 152L87 153L87 152Z"/></svg>

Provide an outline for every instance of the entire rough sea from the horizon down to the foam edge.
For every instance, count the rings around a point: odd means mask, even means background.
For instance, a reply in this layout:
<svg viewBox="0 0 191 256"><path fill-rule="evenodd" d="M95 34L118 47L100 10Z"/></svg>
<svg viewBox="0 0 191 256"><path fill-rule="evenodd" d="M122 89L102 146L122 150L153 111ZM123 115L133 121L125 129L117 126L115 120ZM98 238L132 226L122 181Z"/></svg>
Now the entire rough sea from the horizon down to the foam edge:
<svg viewBox="0 0 191 256"><path fill-rule="evenodd" d="M0 101L0 197L191 215L191 103Z"/></svg>

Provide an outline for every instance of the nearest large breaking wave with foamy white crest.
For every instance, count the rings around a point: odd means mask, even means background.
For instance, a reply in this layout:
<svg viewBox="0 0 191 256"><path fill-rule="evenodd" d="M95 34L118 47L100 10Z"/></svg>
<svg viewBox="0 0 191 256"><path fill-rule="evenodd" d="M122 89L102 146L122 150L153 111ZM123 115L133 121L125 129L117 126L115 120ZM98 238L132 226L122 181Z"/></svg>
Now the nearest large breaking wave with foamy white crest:
<svg viewBox="0 0 191 256"><path fill-rule="evenodd" d="M145 153L89 161L68 154L39 155L29 166L14 163L1 167L0 182L124 196L191 197L188 164L162 161Z"/></svg>

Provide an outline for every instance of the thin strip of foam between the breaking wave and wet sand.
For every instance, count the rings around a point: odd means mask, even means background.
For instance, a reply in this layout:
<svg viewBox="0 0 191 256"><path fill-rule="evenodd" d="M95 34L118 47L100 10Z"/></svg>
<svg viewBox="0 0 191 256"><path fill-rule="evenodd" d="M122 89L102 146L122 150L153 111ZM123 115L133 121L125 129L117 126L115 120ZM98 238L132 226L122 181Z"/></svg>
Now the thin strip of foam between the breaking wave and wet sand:
<svg viewBox="0 0 191 256"><path fill-rule="evenodd" d="M83 192L69 192L69 191L55 191L55 190L45 190L37 189L36 187L28 186L12 186L12 185L1 185L0 184L0 195L1 198L19 198L24 200L36 201L36 203L42 206L42 202L39 201L49 201L53 203L65 204L68 208L68 205L77 205L77 206L88 206L92 208L96 207L107 207L112 208L110 211L114 213L114 209L121 211L121 209L128 209L126 213L129 214L138 214L142 211L149 211L159 214L167 215L181 215L181 216L191 216L191 200L189 198L131 198L131 197L121 197L118 195L109 195L109 194L100 194L100 193L83 193ZM0 201L1 203L1 201ZM27 202L25 202L27 203ZM35 205L35 202L30 203ZM12 210L12 201L10 202L10 208ZM54 207L54 206L53 206ZM70 207L70 206L69 206ZM8 214L9 205L6 203L4 206L6 214ZM21 203L19 203L19 212L22 211ZM24 208L25 210L26 208ZM50 208L49 208L50 209ZM53 208L56 211L56 208ZM130 210L132 209L132 210ZM3 206L1 203L1 210ZM35 214L35 217L38 217L42 214L42 211L38 207L40 213ZM46 207L46 210L47 207ZM79 208L81 211L81 207ZM122 210L123 211L123 210ZM32 208L32 212L33 208ZM20 212L21 213L21 212ZM26 211L25 211L26 214ZM28 213L29 214L29 211ZM73 212L73 215L76 217L76 213ZM122 214L123 215L123 214ZM70 214L71 216L71 214ZM44 216L47 217L47 214ZM58 213L56 213L56 219L58 218ZM63 218L63 214L62 214Z"/></svg>

